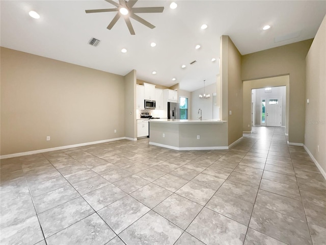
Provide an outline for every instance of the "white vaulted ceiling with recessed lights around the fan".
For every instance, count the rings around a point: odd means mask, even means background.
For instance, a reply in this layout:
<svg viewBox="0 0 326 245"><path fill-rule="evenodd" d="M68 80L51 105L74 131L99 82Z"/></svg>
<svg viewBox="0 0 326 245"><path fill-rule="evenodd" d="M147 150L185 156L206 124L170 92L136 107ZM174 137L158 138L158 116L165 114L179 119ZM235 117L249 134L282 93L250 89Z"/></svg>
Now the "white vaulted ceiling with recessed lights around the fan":
<svg viewBox="0 0 326 245"><path fill-rule="evenodd" d="M203 80L206 85L215 82L222 35L230 36L242 55L250 54L313 38L326 14L326 1L179 0L174 10L171 2L138 1L134 7L165 10L138 14L156 28L131 19L136 35L130 35L122 18L111 31L106 29L116 12L85 13L114 8L104 0L2 0L1 46L122 76L135 69L138 79L165 86L179 83L180 89L194 91L203 87ZM30 10L41 18L31 18ZM203 23L206 30L200 29ZM263 31L266 24L271 28ZM97 47L88 44L92 37L101 40ZM290 39L275 42L275 38ZM201 45L199 50L196 44ZM122 48L128 52L121 53ZM194 60L197 63L189 65ZM182 69L182 64L187 67Z"/></svg>

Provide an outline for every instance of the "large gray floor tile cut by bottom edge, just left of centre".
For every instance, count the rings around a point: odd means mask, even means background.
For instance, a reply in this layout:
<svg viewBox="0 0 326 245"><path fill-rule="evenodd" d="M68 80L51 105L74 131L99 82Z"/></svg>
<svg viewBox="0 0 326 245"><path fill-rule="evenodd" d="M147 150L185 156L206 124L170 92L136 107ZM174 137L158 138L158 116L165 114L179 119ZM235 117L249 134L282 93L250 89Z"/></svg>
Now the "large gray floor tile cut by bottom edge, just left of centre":
<svg viewBox="0 0 326 245"><path fill-rule="evenodd" d="M150 211L119 234L126 244L173 244L182 230L169 220Z"/></svg>

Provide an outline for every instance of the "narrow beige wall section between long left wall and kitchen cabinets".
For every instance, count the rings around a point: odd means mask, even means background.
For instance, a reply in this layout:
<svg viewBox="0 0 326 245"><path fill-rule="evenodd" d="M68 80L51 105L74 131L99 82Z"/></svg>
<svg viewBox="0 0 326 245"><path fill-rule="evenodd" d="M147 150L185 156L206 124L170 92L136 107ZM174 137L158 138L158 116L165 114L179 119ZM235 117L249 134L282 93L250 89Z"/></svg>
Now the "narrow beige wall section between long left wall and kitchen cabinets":
<svg viewBox="0 0 326 245"><path fill-rule="evenodd" d="M124 96L124 111L121 114L125 114L125 122L124 122L124 129L125 129L125 137L129 139L136 139L137 138L137 124L136 121L136 70L130 71L124 77L124 87L125 91L123 94Z"/></svg>

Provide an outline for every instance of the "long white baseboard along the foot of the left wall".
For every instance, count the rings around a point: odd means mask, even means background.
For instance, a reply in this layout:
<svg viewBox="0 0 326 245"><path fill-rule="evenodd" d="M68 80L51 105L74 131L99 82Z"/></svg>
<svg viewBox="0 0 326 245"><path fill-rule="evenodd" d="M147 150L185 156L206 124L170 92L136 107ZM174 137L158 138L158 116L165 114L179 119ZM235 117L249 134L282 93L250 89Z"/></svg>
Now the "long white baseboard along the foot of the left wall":
<svg viewBox="0 0 326 245"><path fill-rule="evenodd" d="M86 142L86 143L80 143L80 144L71 144L71 145L58 146L58 147L55 147L55 148L47 148L47 149L35 150L35 151L30 151L30 152L20 152L20 153L8 154L8 155L0 156L0 159L7 159L7 158L13 158L13 157L22 157L22 156L28 156L28 155L39 154L39 153L44 153L44 152L53 152L53 151L65 150L65 149L69 149L69 148L75 148L75 147L79 147L79 146L86 146L86 145L100 144L100 143L105 143L105 142L110 142L110 141L116 141L116 140L121 140L121 139L134 140L132 138L127 138L127 137L120 137L120 138L114 138L114 139L104 139L104 140L98 140L98 141L92 141L92 142Z"/></svg>

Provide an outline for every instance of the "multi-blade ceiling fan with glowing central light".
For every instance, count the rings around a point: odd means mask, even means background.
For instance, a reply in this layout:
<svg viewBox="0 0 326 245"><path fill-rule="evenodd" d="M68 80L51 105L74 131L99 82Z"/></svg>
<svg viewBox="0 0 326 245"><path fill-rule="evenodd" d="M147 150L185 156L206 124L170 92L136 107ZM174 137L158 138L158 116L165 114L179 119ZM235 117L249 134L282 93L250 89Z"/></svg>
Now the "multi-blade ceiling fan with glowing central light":
<svg viewBox="0 0 326 245"><path fill-rule="evenodd" d="M164 7L140 7L140 8L133 8L135 3L137 3L138 0L129 0L128 2L125 0L119 0L119 3L113 1L113 0L105 0L107 3L110 3L116 8L111 9L90 9L85 10L87 14L89 13L101 13L101 12L118 12L116 16L113 18L113 20L108 24L107 29L111 30L115 23L117 23L118 19L120 17L123 17L124 21L126 21L127 27L129 29L129 32L131 35L135 35L133 27L130 22L130 18L133 18L134 20L137 20L138 22L144 24L145 26L153 29L155 26L151 24L150 22L146 21L145 19L139 17L135 13L162 13L164 10ZM130 17L130 18L129 18Z"/></svg>

